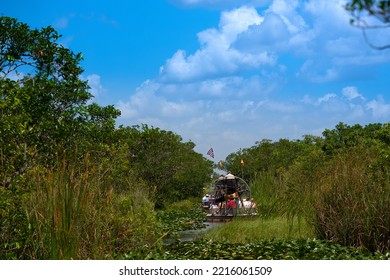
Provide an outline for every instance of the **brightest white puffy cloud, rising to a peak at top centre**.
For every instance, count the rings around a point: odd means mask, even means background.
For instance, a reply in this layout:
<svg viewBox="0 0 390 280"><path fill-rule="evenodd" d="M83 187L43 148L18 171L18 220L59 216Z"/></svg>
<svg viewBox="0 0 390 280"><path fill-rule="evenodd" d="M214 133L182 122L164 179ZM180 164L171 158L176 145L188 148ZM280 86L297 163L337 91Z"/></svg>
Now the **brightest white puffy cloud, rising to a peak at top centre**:
<svg viewBox="0 0 390 280"><path fill-rule="evenodd" d="M198 34L201 44L198 51L187 56L185 51L178 50L166 61L160 68L161 81L189 82L274 64L275 58L268 52L246 53L232 46L239 34L261 21L254 8L223 12L218 29L211 28Z"/></svg>

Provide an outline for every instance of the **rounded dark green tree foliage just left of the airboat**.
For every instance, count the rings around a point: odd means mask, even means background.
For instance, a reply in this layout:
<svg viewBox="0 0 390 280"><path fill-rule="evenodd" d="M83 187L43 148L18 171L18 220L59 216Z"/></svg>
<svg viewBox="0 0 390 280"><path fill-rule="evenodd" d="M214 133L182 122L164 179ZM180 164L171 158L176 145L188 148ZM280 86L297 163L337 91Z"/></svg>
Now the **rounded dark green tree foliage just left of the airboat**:
<svg viewBox="0 0 390 280"><path fill-rule="evenodd" d="M122 166L148 183L156 207L201 195L213 165L194 152L194 143L183 143L179 135L147 125L120 127L115 135L128 154Z"/></svg>

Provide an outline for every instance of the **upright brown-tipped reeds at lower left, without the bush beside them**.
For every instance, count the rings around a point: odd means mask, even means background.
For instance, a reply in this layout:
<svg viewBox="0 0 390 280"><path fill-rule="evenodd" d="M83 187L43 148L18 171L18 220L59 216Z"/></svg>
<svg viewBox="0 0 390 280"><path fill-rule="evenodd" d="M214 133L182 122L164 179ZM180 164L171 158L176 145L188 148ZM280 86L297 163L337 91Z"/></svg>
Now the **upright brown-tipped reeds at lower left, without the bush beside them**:
<svg viewBox="0 0 390 280"><path fill-rule="evenodd" d="M36 168L26 212L32 228L32 259L104 258L109 251L110 189L90 170L88 157L80 165L64 159L59 170Z"/></svg>

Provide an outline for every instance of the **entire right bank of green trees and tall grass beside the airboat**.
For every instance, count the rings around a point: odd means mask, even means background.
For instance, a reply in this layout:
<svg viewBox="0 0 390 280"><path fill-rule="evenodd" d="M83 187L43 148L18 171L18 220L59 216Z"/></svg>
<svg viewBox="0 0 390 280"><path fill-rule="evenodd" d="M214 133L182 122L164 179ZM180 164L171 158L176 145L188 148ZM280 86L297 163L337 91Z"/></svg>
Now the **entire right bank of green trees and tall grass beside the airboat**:
<svg viewBox="0 0 390 280"><path fill-rule="evenodd" d="M263 215L305 218L321 239L390 250L390 123L322 134L262 140L224 166L250 181Z"/></svg>

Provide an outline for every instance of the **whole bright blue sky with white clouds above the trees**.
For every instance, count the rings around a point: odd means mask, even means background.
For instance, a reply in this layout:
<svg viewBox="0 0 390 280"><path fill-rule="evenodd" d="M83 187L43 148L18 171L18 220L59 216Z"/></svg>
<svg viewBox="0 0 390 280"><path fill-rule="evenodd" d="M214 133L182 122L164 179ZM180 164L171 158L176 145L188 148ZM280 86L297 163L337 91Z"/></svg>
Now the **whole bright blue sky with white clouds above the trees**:
<svg viewBox="0 0 390 280"><path fill-rule="evenodd" d="M0 12L82 52L83 79L118 124L171 130L217 162L262 139L389 122L390 49L370 48L344 3L20 0ZM368 35L390 43L389 28Z"/></svg>

